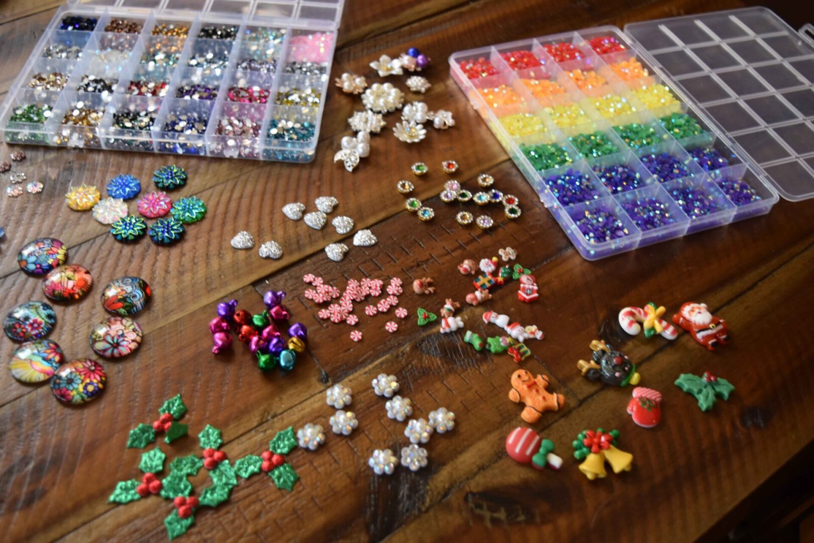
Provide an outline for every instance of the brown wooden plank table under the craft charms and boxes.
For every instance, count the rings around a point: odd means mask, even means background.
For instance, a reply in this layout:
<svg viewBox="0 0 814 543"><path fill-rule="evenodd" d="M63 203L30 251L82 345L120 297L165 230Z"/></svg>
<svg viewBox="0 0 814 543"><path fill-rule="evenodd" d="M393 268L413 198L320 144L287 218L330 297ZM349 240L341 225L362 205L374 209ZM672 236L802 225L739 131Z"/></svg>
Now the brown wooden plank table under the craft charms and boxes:
<svg viewBox="0 0 814 543"><path fill-rule="evenodd" d="M3 93L59 3L7 2L0 8ZM589 535L595 541L688 541L719 538L750 510L785 503L777 488L800 473L811 474L804 461L811 458L814 431L814 202L781 200L768 216L584 261L467 105L446 62L453 51L489 43L742 4L569 4L348 0L332 77L369 74L367 64L379 55L417 46L433 59L422 74L433 86L425 96L410 98L448 109L457 120L453 129L430 129L425 142L409 146L392 136L396 116L389 116L387 129L373 138L370 158L354 173L331 159L348 134L346 119L361 103L335 88L328 95L317 158L307 165L24 147L28 160L20 168L45 190L0 198L0 223L7 231L0 242L2 312L42 299L41 282L15 263L19 248L42 236L62 239L70 247L69 261L94 275L92 296L56 309L59 323L50 338L68 357L91 353L88 333L106 316L98 296L107 282L137 275L151 284L154 296L138 315L146 332L142 347L129 359L106 362L107 390L81 409L59 405L46 385L26 387L0 371L0 533L7 534L6 541L163 541L163 520L172 512L168 501L107 502L116 481L141 475L142 451L125 449L131 428L155 420L161 402L181 392L190 409L185 421L190 437L161 443L161 449L168 458L200 453L195 435L210 423L223 431L223 449L234 461L260 454L283 428L320 423L327 429L333 409L326 405L325 389L333 383L355 392L358 430L350 437L329 431L317 452L292 452L288 459L301 478L293 492L255 476L234 488L224 505L199 510L190 541L387 536L578 541ZM794 26L804 22L804 14L794 15L801 18L790 21ZM0 150L3 160L10 151ZM461 164L457 178L470 188L479 173L491 173L497 188L522 199L523 217L501 221L486 233L457 226L453 208L437 197L448 178L440 173L444 159ZM90 213L63 204L72 183L103 186L118 173L132 173L149 184L151 172L173 160L190 173L180 195L199 195L208 205L204 221L190 226L175 247L148 240L116 243ZM395 189L398 179L412 178L409 166L418 160L433 170L413 178L415 195L435 208L435 220L427 224L405 212L404 197ZM310 209L320 195L339 198L335 213L352 217L357 228L371 228L379 244L352 247L344 261L328 261L323 248L343 236L330 226L311 230L280 212L292 201ZM229 240L239 230L252 232L258 243L276 239L285 256L265 261L255 250L235 251ZM505 436L523 424L521 408L507 399L514 361L475 353L461 334L419 328L413 317L418 306L437 312L444 298L463 301L471 286L455 265L496 255L507 245L536 274L540 300L519 304L514 287L504 287L488 309L546 331L523 366L550 375L551 388L566 396L564 409L534 425L565 459L558 473L540 473L506 457ZM349 326L317 318L317 308L303 296L306 273L338 287L347 278L403 278L408 289L401 304L411 316L391 335L383 329L386 317L369 318L357 309L365 336L355 344ZM410 291L409 282L424 276L435 278L434 296ZM295 320L310 329L308 353L289 374L261 374L242 344L225 356L210 353L207 325L217 302L236 298L257 313L269 286L287 291ZM624 335L616 322L619 309L650 300L671 312L686 300L706 302L729 321L732 344L708 353L686 334L674 342ZM497 329L484 326L481 313L466 305L461 314L472 330L493 335ZM623 347L641 365L643 384L663 392L659 427L634 426L625 413L629 388L589 383L575 369L597 337ZM7 361L14 347L0 341L0 360ZM719 401L709 413L672 384L680 373L704 370L736 386L729 401ZM370 388L380 373L398 377L400 393L414 401L417 416L442 405L457 414L456 429L427 444L430 463L418 473L400 468L377 477L366 465L373 449L397 450L406 442L403 423L385 416L384 400ZM571 440L588 427L621 431L619 447L635 455L630 473L593 482L580 474ZM192 482L200 490L206 479L202 470ZM795 506L800 503L811 501Z"/></svg>

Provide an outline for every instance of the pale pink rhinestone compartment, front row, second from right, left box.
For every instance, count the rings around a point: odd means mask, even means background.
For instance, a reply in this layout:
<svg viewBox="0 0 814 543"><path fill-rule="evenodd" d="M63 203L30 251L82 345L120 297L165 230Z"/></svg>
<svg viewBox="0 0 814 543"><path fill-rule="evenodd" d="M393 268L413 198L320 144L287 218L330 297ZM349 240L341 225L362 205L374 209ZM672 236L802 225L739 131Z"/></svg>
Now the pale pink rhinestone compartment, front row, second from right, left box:
<svg viewBox="0 0 814 543"><path fill-rule="evenodd" d="M260 159L260 130L266 105L223 102L215 110L217 120L208 135L209 155Z"/></svg>

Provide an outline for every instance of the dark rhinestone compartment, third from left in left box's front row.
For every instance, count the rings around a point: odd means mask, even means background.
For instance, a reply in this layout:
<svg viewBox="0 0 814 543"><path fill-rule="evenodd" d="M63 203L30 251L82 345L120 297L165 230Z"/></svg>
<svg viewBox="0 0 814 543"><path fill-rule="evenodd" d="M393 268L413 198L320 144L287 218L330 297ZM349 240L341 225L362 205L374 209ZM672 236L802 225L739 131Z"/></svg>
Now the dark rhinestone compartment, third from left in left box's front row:
<svg viewBox="0 0 814 543"><path fill-rule="evenodd" d="M161 99L155 96L119 94L107 106L103 120L103 146L116 151L155 151L152 128Z"/></svg>

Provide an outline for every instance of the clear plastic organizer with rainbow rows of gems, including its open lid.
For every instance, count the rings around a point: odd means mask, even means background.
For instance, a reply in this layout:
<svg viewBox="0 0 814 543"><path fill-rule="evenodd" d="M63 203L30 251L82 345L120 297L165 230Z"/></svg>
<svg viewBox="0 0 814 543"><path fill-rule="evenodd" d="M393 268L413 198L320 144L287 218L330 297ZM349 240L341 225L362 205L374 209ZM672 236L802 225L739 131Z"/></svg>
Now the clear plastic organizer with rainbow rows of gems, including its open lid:
<svg viewBox="0 0 814 543"><path fill-rule="evenodd" d="M729 38L705 27L710 20L737 33L741 46L731 48L734 54L716 42ZM670 32L674 28L709 48L685 45ZM589 28L449 57L453 79L584 258L597 260L767 213L778 190L787 199L814 195L812 42L764 8L648 21L626 30ZM661 33L658 42L655 32ZM781 37L786 39L772 39ZM754 43L771 59L752 68L754 60L735 51ZM759 101L721 85L725 97L707 105L676 84L676 72L654 56L686 50L693 60L686 73L694 77L716 73L721 50L737 61L728 65L730 72L807 67L809 79L794 71L794 83L787 84L808 98L783 99L777 86L756 77L765 86L755 98L779 96L790 117L769 119L768 107L716 116L716 104L758 107ZM787 55L795 58L789 63ZM673 66L679 66L677 59ZM737 122L741 116L749 123L732 137L727 119ZM744 139L755 145L747 147L739 136L753 132L773 137L751 135ZM779 149L772 154L764 144Z"/></svg>

